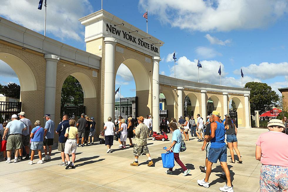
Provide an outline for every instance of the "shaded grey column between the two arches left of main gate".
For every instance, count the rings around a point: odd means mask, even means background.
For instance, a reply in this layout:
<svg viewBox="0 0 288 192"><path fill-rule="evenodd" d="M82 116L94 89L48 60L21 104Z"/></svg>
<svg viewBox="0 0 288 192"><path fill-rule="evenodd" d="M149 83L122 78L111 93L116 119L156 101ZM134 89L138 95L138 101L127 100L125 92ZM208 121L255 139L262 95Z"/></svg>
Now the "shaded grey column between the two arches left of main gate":
<svg viewBox="0 0 288 192"><path fill-rule="evenodd" d="M46 59L44 114L50 114L51 119L55 121L56 72L58 57L56 55L45 54L44 58Z"/></svg>

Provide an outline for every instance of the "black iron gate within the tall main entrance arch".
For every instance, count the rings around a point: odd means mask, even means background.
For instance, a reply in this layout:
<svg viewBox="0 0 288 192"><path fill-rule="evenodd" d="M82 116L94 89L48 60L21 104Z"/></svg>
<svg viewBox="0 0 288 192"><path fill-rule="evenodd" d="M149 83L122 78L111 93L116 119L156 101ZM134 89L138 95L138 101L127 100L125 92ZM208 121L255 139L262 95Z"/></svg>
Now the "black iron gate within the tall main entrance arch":
<svg viewBox="0 0 288 192"><path fill-rule="evenodd" d="M138 97L120 98L120 116L127 119L130 115L138 117Z"/></svg>

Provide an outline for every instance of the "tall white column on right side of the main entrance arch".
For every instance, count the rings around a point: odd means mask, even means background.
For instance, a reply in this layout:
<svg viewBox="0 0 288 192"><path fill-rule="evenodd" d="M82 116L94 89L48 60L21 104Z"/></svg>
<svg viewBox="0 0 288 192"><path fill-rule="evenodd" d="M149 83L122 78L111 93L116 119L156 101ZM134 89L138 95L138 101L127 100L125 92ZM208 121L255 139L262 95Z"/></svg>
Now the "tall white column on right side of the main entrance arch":
<svg viewBox="0 0 288 192"><path fill-rule="evenodd" d="M159 62L161 61L160 57L152 57L153 61L153 130L157 133L160 131L160 117L159 117Z"/></svg>

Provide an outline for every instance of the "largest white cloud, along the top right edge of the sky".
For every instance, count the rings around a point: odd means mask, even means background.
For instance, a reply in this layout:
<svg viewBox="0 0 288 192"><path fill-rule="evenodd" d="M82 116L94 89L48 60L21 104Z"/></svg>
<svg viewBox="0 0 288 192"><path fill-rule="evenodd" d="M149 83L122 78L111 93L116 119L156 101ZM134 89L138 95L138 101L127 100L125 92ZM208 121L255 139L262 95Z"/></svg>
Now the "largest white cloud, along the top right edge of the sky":
<svg viewBox="0 0 288 192"><path fill-rule="evenodd" d="M193 31L230 31L268 26L287 13L285 0L140 0L139 9L163 24Z"/></svg>

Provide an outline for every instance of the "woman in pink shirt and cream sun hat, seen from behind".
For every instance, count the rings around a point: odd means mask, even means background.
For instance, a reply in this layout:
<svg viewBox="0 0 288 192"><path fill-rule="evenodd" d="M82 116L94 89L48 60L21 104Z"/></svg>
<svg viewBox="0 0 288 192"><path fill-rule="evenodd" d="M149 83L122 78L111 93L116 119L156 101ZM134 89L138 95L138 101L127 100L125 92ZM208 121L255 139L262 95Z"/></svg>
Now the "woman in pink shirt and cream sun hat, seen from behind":
<svg viewBox="0 0 288 192"><path fill-rule="evenodd" d="M288 191L288 135L279 119L269 121L268 132L256 142L256 159L262 163L260 192Z"/></svg>

